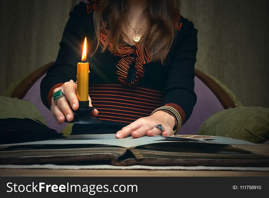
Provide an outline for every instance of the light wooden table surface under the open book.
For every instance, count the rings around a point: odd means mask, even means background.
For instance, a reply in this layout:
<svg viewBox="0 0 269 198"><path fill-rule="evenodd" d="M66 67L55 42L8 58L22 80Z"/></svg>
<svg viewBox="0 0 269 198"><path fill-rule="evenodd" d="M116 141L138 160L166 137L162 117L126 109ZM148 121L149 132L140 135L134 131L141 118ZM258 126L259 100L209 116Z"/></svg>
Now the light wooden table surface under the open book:
<svg viewBox="0 0 269 198"><path fill-rule="evenodd" d="M269 156L269 144L236 145ZM269 176L269 171L0 169L0 176Z"/></svg>

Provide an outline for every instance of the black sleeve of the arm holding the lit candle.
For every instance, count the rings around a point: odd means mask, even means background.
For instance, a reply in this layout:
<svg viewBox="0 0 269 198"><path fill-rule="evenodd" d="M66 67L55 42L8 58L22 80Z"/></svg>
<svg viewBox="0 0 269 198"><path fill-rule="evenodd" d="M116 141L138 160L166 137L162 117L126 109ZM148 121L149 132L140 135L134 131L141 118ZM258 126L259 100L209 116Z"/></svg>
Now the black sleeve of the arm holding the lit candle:
<svg viewBox="0 0 269 198"><path fill-rule="evenodd" d="M70 79L76 81L77 63L81 62L82 46L87 35L87 4L81 2L70 12L70 18L64 28L60 49L54 65L48 70L40 84L43 104L50 108L51 89L61 86Z"/></svg>

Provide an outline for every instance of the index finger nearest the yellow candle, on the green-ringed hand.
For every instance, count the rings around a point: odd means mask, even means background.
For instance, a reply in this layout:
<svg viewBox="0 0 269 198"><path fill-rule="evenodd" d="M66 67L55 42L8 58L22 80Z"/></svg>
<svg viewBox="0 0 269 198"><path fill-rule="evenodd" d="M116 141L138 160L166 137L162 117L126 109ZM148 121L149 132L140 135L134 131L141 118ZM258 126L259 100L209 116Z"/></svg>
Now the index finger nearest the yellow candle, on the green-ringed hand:
<svg viewBox="0 0 269 198"><path fill-rule="evenodd" d="M64 95L69 101L72 109L76 111L79 108L79 100L76 96L76 84L72 82L64 83Z"/></svg>

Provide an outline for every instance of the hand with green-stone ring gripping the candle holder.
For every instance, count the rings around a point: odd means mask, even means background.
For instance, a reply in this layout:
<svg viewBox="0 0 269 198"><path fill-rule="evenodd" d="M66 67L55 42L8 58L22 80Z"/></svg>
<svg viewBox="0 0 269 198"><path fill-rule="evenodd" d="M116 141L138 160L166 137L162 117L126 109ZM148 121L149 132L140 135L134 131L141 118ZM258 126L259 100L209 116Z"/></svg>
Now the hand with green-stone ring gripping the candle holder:
<svg viewBox="0 0 269 198"><path fill-rule="evenodd" d="M65 119L68 122L74 119L72 109L76 111L79 108L79 101L76 96L77 85L74 82L65 82L61 87L54 89L53 93L60 89L64 93L64 97L60 98L56 102L53 102L53 98L51 98L50 110L57 123L63 124ZM92 107L90 96L89 101L89 106ZM94 109L91 114L92 116L97 116L97 109Z"/></svg>

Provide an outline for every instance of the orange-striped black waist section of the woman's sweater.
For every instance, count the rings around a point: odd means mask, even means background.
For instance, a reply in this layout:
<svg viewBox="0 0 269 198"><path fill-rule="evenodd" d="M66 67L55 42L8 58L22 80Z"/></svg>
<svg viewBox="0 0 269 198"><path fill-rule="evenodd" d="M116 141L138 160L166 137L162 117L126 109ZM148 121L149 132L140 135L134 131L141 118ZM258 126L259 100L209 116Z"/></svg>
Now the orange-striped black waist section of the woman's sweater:
<svg viewBox="0 0 269 198"><path fill-rule="evenodd" d="M127 85L90 85L92 105L100 120L132 123L162 106L162 92Z"/></svg>

